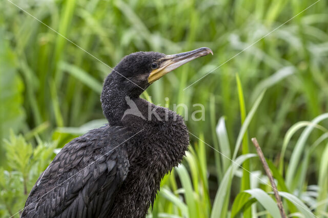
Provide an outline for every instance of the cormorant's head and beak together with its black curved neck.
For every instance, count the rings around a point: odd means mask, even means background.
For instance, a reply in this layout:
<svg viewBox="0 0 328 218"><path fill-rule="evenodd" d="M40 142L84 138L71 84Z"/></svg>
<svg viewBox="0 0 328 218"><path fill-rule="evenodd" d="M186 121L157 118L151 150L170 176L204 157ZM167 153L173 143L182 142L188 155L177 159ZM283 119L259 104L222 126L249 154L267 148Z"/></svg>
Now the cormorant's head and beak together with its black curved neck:
<svg viewBox="0 0 328 218"><path fill-rule="evenodd" d="M212 54L208 47L165 55L157 52L136 52L124 57L105 80L101 106L111 125L120 125L127 107L126 96L138 98L152 83L177 67L198 57Z"/></svg>

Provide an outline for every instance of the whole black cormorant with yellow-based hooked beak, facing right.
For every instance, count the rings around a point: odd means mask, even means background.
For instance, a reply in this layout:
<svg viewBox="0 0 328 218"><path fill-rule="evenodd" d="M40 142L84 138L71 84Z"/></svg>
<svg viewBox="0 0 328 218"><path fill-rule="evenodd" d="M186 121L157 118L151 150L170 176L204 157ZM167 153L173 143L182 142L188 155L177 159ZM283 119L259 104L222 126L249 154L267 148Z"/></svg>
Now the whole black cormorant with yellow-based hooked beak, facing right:
<svg viewBox="0 0 328 218"><path fill-rule="evenodd" d="M209 53L201 47L124 57L101 93L109 124L61 149L33 186L21 217L145 217L161 178L185 155L189 134L181 116L139 96L163 75ZM125 113L131 105L137 112Z"/></svg>

